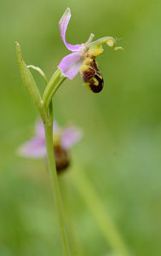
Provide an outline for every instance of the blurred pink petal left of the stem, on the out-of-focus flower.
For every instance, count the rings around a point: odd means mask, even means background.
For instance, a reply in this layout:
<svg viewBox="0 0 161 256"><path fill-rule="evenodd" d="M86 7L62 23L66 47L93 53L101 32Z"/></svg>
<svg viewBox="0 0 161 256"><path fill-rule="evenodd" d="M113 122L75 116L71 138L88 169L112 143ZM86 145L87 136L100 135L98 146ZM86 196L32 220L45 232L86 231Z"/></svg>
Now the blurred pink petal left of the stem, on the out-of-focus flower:
<svg viewBox="0 0 161 256"><path fill-rule="evenodd" d="M43 158L46 155L46 143L44 139L33 137L18 148L18 154L27 158Z"/></svg>

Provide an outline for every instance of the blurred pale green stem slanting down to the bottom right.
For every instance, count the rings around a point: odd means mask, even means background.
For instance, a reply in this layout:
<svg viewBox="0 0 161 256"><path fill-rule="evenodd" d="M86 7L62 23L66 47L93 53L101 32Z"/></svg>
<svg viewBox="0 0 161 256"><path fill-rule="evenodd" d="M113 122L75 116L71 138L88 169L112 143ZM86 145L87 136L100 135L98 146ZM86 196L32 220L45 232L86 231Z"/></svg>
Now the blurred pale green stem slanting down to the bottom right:
<svg viewBox="0 0 161 256"><path fill-rule="evenodd" d="M116 255L129 256L128 248L124 245L124 241L119 235L117 227L103 207L101 199L95 192L92 183L90 183L88 177L83 174L83 170L80 170L80 168L77 169L77 171L74 170L72 173L73 183L95 218L106 241L112 247Z"/></svg>

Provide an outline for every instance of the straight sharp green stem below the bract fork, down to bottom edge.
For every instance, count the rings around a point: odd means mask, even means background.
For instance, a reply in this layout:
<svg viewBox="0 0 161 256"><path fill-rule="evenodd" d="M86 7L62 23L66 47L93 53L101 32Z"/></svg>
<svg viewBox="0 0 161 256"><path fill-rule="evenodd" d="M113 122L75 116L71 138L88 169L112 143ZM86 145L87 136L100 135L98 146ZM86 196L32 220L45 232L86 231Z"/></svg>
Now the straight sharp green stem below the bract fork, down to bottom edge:
<svg viewBox="0 0 161 256"><path fill-rule="evenodd" d="M58 177L57 177L56 166L55 166L55 154L54 154L54 147L53 147L53 122L50 122L50 124L45 124L44 128L45 128L47 155L48 155L49 176L50 176L53 195L55 199L55 208L57 212L57 217L59 220L62 246L63 246L65 255L70 256L71 253L69 252L68 241L66 237L66 229L65 229L63 213L61 208L60 187L58 183Z"/></svg>

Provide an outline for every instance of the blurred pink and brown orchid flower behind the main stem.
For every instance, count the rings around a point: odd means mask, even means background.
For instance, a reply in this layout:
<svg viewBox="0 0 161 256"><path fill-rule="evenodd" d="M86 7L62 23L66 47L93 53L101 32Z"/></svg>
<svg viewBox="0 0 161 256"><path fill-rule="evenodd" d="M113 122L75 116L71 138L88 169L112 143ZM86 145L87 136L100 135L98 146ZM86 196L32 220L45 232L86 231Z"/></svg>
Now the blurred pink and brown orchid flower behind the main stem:
<svg viewBox="0 0 161 256"><path fill-rule="evenodd" d="M69 148L71 148L73 144L78 143L83 134L82 131L74 126L61 129L55 121L53 133L56 169L57 171L62 171L66 169L70 163ZM40 119L37 120L35 125L35 137L32 137L31 140L21 145L18 149L18 154L26 158L46 157L45 131L43 122Z"/></svg>

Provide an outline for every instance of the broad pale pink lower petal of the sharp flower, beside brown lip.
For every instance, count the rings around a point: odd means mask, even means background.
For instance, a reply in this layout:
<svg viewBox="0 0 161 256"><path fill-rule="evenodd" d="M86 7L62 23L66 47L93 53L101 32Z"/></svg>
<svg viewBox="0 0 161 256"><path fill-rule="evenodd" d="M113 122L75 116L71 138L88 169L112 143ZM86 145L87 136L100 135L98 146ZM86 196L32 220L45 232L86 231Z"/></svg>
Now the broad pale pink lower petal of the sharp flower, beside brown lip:
<svg viewBox="0 0 161 256"><path fill-rule="evenodd" d="M82 65L82 56L79 53L72 53L71 55L66 55L66 57L60 61L58 67L60 67L60 70L67 78L74 79Z"/></svg>

